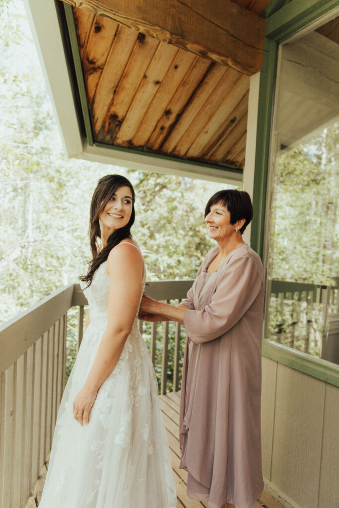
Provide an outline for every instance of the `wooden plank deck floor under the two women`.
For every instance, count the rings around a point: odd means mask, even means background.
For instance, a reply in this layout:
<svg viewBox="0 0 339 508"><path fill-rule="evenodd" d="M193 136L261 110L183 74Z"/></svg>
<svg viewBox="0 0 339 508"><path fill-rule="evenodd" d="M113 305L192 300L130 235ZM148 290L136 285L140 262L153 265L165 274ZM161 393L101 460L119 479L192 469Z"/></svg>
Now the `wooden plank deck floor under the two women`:
<svg viewBox="0 0 339 508"><path fill-rule="evenodd" d="M176 508L208 508L207 503L201 503L189 498L186 492L187 472L179 469L180 450L179 450L179 402L180 393L168 393L161 395L160 407L164 417L164 423L167 431L167 438L170 447L173 475L177 494ZM26 508L36 508L39 505L44 482L48 468L48 461L44 465L39 480L35 487L34 497L30 497ZM234 508L232 504L227 504L226 508ZM283 508L283 506L272 496L263 492L256 508Z"/></svg>

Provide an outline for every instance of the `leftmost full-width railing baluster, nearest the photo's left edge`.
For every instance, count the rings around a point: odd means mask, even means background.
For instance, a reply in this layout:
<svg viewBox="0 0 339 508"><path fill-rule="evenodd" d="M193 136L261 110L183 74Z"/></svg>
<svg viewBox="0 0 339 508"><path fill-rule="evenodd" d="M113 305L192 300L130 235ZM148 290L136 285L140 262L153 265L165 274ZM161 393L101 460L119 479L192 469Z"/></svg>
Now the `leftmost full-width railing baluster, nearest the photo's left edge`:
<svg viewBox="0 0 339 508"><path fill-rule="evenodd" d="M16 362L6 370L3 506L12 504L11 487L14 483L15 377Z"/></svg>

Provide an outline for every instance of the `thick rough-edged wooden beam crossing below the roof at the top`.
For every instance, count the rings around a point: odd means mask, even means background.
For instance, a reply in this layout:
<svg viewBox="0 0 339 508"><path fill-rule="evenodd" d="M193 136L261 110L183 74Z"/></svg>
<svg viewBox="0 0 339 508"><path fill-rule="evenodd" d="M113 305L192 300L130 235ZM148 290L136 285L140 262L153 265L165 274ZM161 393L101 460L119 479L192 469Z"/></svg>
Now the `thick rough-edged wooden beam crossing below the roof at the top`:
<svg viewBox="0 0 339 508"><path fill-rule="evenodd" d="M264 19L230 0L63 0L252 75L262 66Z"/></svg>

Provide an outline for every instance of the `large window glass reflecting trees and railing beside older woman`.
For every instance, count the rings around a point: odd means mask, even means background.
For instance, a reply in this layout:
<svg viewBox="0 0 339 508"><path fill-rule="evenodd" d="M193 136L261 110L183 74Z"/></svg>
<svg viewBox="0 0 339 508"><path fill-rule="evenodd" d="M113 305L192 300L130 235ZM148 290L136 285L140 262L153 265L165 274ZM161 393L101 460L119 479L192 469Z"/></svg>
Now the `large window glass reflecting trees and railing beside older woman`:
<svg viewBox="0 0 339 508"><path fill-rule="evenodd" d="M337 21L280 48L265 337L339 364Z"/></svg>

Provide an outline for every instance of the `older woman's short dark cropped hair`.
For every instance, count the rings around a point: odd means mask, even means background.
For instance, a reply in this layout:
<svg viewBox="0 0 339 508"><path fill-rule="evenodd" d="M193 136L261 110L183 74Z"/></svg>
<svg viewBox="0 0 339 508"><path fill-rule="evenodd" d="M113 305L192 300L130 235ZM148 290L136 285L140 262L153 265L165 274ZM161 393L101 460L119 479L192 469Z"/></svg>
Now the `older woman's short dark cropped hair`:
<svg viewBox="0 0 339 508"><path fill-rule="evenodd" d="M230 223L235 224L237 220L245 219L245 224L240 229L242 234L246 226L250 224L253 217L253 207L250 195L245 190L219 190L208 200L205 208L205 217L210 212L211 206L222 203L230 212Z"/></svg>

